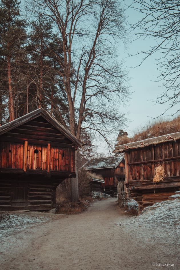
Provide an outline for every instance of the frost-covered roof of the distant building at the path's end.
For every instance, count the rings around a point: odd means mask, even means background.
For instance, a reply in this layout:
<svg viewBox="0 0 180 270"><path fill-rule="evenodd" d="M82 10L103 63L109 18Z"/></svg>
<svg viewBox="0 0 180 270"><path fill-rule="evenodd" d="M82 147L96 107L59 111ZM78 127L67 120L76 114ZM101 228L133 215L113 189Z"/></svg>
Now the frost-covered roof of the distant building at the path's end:
<svg viewBox="0 0 180 270"><path fill-rule="evenodd" d="M123 159L123 156L91 159L87 161L87 163L85 163L82 167L86 170L116 168L119 163L123 161Z"/></svg>

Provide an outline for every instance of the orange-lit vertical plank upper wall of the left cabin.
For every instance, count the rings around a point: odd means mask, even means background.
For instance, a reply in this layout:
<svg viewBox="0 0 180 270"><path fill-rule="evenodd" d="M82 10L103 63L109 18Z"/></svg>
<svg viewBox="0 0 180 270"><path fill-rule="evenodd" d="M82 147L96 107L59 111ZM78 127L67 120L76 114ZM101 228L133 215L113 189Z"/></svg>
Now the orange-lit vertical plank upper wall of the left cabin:
<svg viewBox="0 0 180 270"><path fill-rule="evenodd" d="M27 144L27 141L0 142L0 153L0 168L75 171L75 154L70 148Z"/></svg>

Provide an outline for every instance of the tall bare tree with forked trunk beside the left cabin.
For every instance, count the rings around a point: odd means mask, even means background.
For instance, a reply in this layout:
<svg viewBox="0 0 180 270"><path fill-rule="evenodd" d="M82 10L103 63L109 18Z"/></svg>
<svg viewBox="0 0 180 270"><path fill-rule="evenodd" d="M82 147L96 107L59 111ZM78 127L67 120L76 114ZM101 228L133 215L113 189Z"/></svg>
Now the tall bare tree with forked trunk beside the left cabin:
<svg viewBox="0 0 180 270"><path fill-rule="evenodd" d="M125 37L119 2L34 0L31 10L51 18L62 40L64 61L59 61L59 75L67 94L71 132L80 138L81 129L88 128L108 141L108 135L125 121L119 108L129 95L127 77L115 53L117 40ZM76 200L78 179L73 179L72 190L71 199Z"/></svg>

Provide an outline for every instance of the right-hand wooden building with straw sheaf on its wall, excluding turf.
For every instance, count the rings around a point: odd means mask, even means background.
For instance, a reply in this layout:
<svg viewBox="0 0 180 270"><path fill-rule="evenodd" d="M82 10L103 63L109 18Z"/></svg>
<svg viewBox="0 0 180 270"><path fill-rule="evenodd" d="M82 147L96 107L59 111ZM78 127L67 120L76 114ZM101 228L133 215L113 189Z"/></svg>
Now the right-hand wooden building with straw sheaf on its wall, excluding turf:
<svg viewBox="0 0 180 270"><path fill-rule="evenodd" d="M126 192L143 207L167 200L180 187L180 132L118 145L125 153ZM155 168L164 167L164 181L153 182Z"/></svg>

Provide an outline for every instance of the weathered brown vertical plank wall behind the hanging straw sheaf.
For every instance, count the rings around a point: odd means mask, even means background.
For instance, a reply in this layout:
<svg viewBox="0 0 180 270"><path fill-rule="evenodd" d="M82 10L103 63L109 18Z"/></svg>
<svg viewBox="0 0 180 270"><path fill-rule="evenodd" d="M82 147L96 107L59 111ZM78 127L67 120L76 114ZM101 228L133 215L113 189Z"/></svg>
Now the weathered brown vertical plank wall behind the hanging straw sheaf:
<svg viewBox="0 0 180 270"><path fill-rule="evenodd" d="M128 179L152 180L155 175L155 167L161 165L165 169L165 177L180 176L180 141L170 141L141 149L132 149L125 153ZM162 161L162 159L171 159ZM160 161L159 161L160 160ZM143 163L146 161L146 163ZM149 161L149 162L148 162ZM142 162L142 163L141 163ZM129 164L128 163L138 163ZM128 183L128 182L127 182Z"/></svg>

